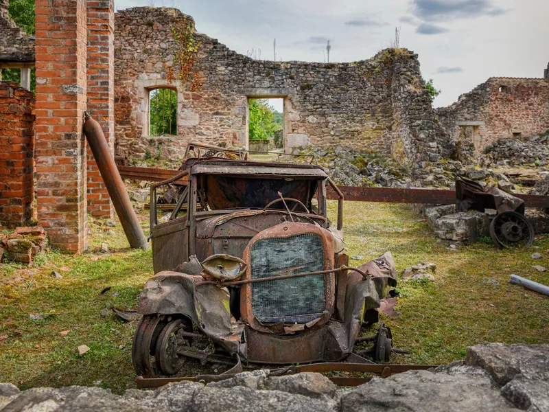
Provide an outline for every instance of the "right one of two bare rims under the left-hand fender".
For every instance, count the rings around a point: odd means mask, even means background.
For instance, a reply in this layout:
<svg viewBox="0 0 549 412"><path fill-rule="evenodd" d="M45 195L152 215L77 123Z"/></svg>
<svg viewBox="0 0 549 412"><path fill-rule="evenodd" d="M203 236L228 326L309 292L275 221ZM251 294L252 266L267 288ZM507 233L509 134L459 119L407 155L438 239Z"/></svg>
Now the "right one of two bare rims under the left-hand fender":
<svg viewBox="0 0 549 412"><path fill-rule="evenodd" d="M175 375L185 363L185 356L177 354L178 345L185 341L185 338L178 334L180 330L185 330L185 322L182 319L175 319L165 325L156 342L156 367L166 375Z"/></svg>

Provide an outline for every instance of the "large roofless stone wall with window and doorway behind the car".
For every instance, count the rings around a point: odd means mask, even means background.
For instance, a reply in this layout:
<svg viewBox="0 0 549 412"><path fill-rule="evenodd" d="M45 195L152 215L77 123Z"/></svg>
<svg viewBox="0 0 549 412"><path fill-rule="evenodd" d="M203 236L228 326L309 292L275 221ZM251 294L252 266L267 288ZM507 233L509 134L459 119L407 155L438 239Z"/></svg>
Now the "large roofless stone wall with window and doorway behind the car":
<svg viewBox="0 0 549 412"><path fill-rule="evenodd" d="M117 151L180 159L187 141L246 147L248 97L285 97L285 147L307 144L372 150L435 161L447 136L433 124L417 55L379 52L351 63L272 62L231 51L205 34L185 80L178 78L174 29L190 19L170 8L115 16ZM188 20L187 20L188 21ZM148 89L178 93L178 136L148 137ZM444 141L444 144L437 144Z"/></svg>

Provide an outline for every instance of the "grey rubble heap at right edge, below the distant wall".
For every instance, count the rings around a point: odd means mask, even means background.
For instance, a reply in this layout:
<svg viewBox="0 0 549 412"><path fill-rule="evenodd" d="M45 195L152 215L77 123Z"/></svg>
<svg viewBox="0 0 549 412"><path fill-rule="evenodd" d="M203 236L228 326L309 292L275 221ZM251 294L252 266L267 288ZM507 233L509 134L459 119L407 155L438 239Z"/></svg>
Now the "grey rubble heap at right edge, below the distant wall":
<svg viewBox="0 0 549 412"><path fill-rule="evenodd" d="M495 165L533 163L535 166L549 165L549 135L533 136L528 139L500 139L484 149Z"/></svg>

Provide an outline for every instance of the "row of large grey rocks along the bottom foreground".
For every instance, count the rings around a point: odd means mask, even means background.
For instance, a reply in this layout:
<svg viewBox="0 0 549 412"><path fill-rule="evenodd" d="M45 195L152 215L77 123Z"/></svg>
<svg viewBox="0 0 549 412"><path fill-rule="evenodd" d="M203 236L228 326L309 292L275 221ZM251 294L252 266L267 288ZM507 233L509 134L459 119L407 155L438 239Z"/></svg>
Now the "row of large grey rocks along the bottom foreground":
<svg viewBox="0 0 549 412"><path fill-rule="evenodd" d="M0 384L3 411L519 411L549 410L549 345L477 345L465 361L336 387L316 373L246 371L203 385L170 383L123 396L98 387Z"/></svg>

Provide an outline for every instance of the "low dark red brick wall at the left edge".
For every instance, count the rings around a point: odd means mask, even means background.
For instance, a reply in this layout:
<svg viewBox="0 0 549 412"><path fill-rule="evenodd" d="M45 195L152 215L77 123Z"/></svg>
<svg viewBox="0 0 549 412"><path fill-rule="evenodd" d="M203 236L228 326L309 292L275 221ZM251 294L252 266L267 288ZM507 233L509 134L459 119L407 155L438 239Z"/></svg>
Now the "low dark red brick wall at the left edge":
<svg viewBox="0 0 549 412"><path fill-rule="evenodd" d="M34 98L0 82L0 220L26 225L34 195Z"/></svg>

